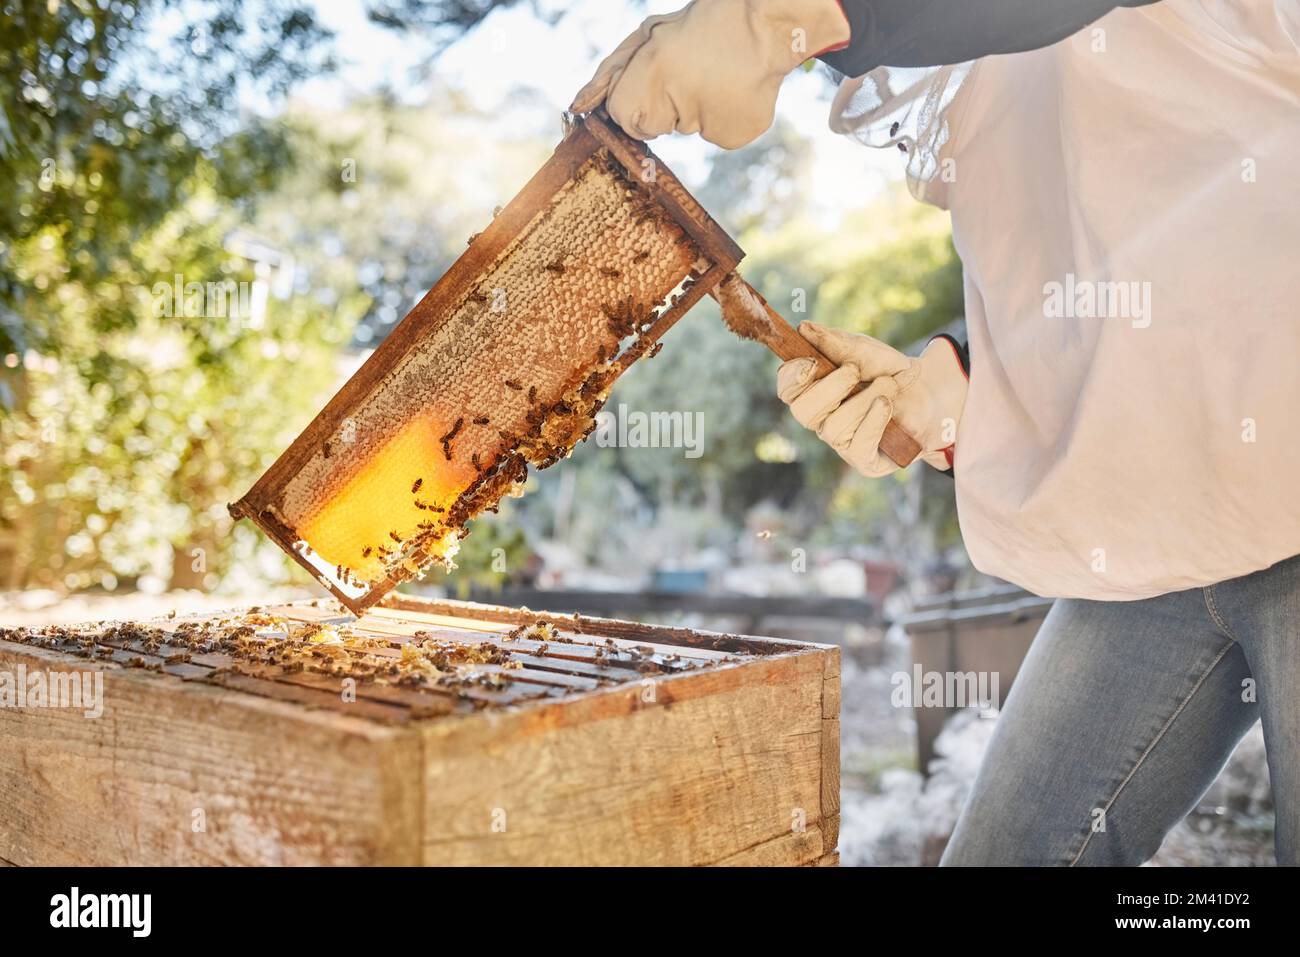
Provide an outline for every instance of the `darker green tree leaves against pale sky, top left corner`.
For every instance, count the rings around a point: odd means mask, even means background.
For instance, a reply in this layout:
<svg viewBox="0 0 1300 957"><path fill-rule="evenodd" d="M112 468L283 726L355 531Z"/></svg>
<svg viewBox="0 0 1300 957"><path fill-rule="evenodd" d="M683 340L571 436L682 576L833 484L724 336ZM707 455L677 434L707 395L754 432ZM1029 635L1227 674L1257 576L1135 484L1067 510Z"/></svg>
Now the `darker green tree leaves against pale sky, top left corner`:
<svg viewBox="0 0 1300 957"><path fill-rule="evenodd" d="M61 335L43 308L51 278L29 282L13 268L23 247L65 250L55 282L114 285L133 243L187 200L200 164L226 200L265 190L289 157L277 130L243 114L240 96L276 96L329 69L328 34L281 0L0 9L0 354L57 355ZM112 332L134 315L108 296L91 321Z"/></svg>

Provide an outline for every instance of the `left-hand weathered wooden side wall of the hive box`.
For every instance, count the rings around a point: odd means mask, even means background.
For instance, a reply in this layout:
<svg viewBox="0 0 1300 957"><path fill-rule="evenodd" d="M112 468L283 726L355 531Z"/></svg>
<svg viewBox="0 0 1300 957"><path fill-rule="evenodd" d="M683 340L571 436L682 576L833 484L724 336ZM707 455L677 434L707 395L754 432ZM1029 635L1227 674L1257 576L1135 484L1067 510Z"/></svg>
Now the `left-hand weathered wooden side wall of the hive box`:
<svg viewBox="0 0 1300 957"><path fill-rule="evenodd" d="M0 709L17 865L416 863L419 737L0 642L0 668L104 671L104 713ZM203 830L195 830L202 824Z"/></svg>

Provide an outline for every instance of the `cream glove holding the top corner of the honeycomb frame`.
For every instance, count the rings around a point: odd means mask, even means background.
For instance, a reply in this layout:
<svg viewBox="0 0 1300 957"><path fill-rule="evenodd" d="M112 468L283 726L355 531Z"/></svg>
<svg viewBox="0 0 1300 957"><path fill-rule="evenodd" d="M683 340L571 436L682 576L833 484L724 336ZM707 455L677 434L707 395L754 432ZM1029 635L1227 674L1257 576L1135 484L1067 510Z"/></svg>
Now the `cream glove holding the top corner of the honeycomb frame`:
<svg viewBox="0 0 1300 957"><path fill-rule="evenodd" d="M637 139L676 130L734 150L772 125L785 74L848 40L837 0L693 0L642 22L569 112L604 101Z"/></svg>

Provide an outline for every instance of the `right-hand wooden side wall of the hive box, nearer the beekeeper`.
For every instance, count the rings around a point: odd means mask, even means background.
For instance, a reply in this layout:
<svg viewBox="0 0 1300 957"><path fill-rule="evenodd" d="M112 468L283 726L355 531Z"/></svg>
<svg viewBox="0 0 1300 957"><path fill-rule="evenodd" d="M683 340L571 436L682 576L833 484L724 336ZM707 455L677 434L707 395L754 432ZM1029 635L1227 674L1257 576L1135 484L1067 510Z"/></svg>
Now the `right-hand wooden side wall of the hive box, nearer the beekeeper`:
<svg viewBox="0 0 1300 957"><path fill-rule="evenodd" d="M422 726L425 863L719 863L800 811L820 856L823 658Z"/></svg>

